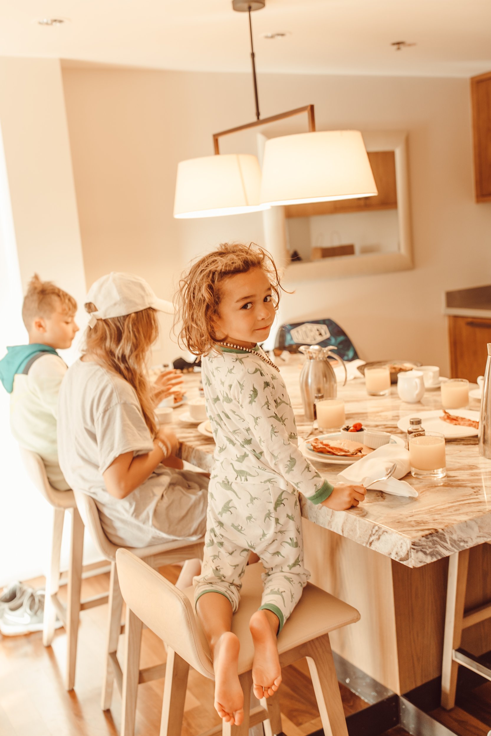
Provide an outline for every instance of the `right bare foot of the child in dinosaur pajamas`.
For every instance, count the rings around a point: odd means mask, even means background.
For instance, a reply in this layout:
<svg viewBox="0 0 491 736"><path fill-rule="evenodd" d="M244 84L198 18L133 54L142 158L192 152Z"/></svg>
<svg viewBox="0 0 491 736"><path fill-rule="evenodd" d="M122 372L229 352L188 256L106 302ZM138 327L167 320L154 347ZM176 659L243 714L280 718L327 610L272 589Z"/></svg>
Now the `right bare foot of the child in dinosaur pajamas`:
<svg viewBox="0 0 491 736"><path fill-rule="evenodd" d="M279 666L276 636L268 620L268 612L262 610L253 613L249 629L254 641L253 690L254 695L260 700L276 693L282 682L282 668Z"/></svg>

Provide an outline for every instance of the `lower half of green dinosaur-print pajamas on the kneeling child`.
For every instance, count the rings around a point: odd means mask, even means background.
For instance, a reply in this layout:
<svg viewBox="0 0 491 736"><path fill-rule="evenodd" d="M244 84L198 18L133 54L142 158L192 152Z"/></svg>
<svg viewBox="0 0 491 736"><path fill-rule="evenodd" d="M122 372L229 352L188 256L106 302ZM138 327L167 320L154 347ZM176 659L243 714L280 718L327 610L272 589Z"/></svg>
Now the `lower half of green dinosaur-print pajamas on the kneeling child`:
<svg viewBox="0 0 491 736"><path fill-rule="evenodd" d="M235 612L240 581L253 550L265 569L260 609L276 614L281 631L309 578L301 531L299 500L294 493L268 483L230 482L212 476L195 600L206 592L221 593Z"/></svg>

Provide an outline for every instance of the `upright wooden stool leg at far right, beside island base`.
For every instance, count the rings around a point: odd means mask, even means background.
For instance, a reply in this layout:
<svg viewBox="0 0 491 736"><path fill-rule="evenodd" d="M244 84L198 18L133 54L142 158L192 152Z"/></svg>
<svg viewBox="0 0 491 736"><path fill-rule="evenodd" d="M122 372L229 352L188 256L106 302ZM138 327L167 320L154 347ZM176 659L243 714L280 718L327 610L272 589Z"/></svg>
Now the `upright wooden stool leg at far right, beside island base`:
<svg viewBox="0 0 491 736"><path fill-rule="evenodd" d="M452 659L453 649L458 649L462 640L465 589L469 550L456 552L448 559L447 609L445 612L445 637L442 662L442 708L450 710L455 705L457 673L459 665Z"/></svg>

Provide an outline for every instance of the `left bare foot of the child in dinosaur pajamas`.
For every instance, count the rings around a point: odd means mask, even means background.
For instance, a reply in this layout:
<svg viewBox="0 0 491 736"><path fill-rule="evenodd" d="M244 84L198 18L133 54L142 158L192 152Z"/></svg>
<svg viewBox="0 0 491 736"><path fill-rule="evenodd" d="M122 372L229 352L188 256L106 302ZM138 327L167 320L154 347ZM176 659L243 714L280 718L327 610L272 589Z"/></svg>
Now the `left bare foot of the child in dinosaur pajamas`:
<svg viewBox="0 0 491 736"><path fill-rule="evenodd" d="M215 644L215 710L226 723L240 726L244 720L244 693L237 673L240 643L226 631Z"/></svg>

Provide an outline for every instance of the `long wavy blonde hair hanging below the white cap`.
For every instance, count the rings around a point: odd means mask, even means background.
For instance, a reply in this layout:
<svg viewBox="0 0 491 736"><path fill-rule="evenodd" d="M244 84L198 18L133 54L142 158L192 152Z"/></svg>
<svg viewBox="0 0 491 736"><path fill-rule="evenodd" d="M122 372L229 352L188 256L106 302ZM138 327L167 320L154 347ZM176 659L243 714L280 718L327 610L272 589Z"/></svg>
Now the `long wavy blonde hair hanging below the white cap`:
<svg viewBox="0 0 491 736"><path fill-rule="evenodd" d="M92 302L87 302L85 307L88 314L97 311ZM103 368L117 373L133 386L152 436L156 435L157 425L145 359L158 336L156 311L149 307L122 317L97 319L87 331L83 349L83 355L91 353Z"/></svg>

